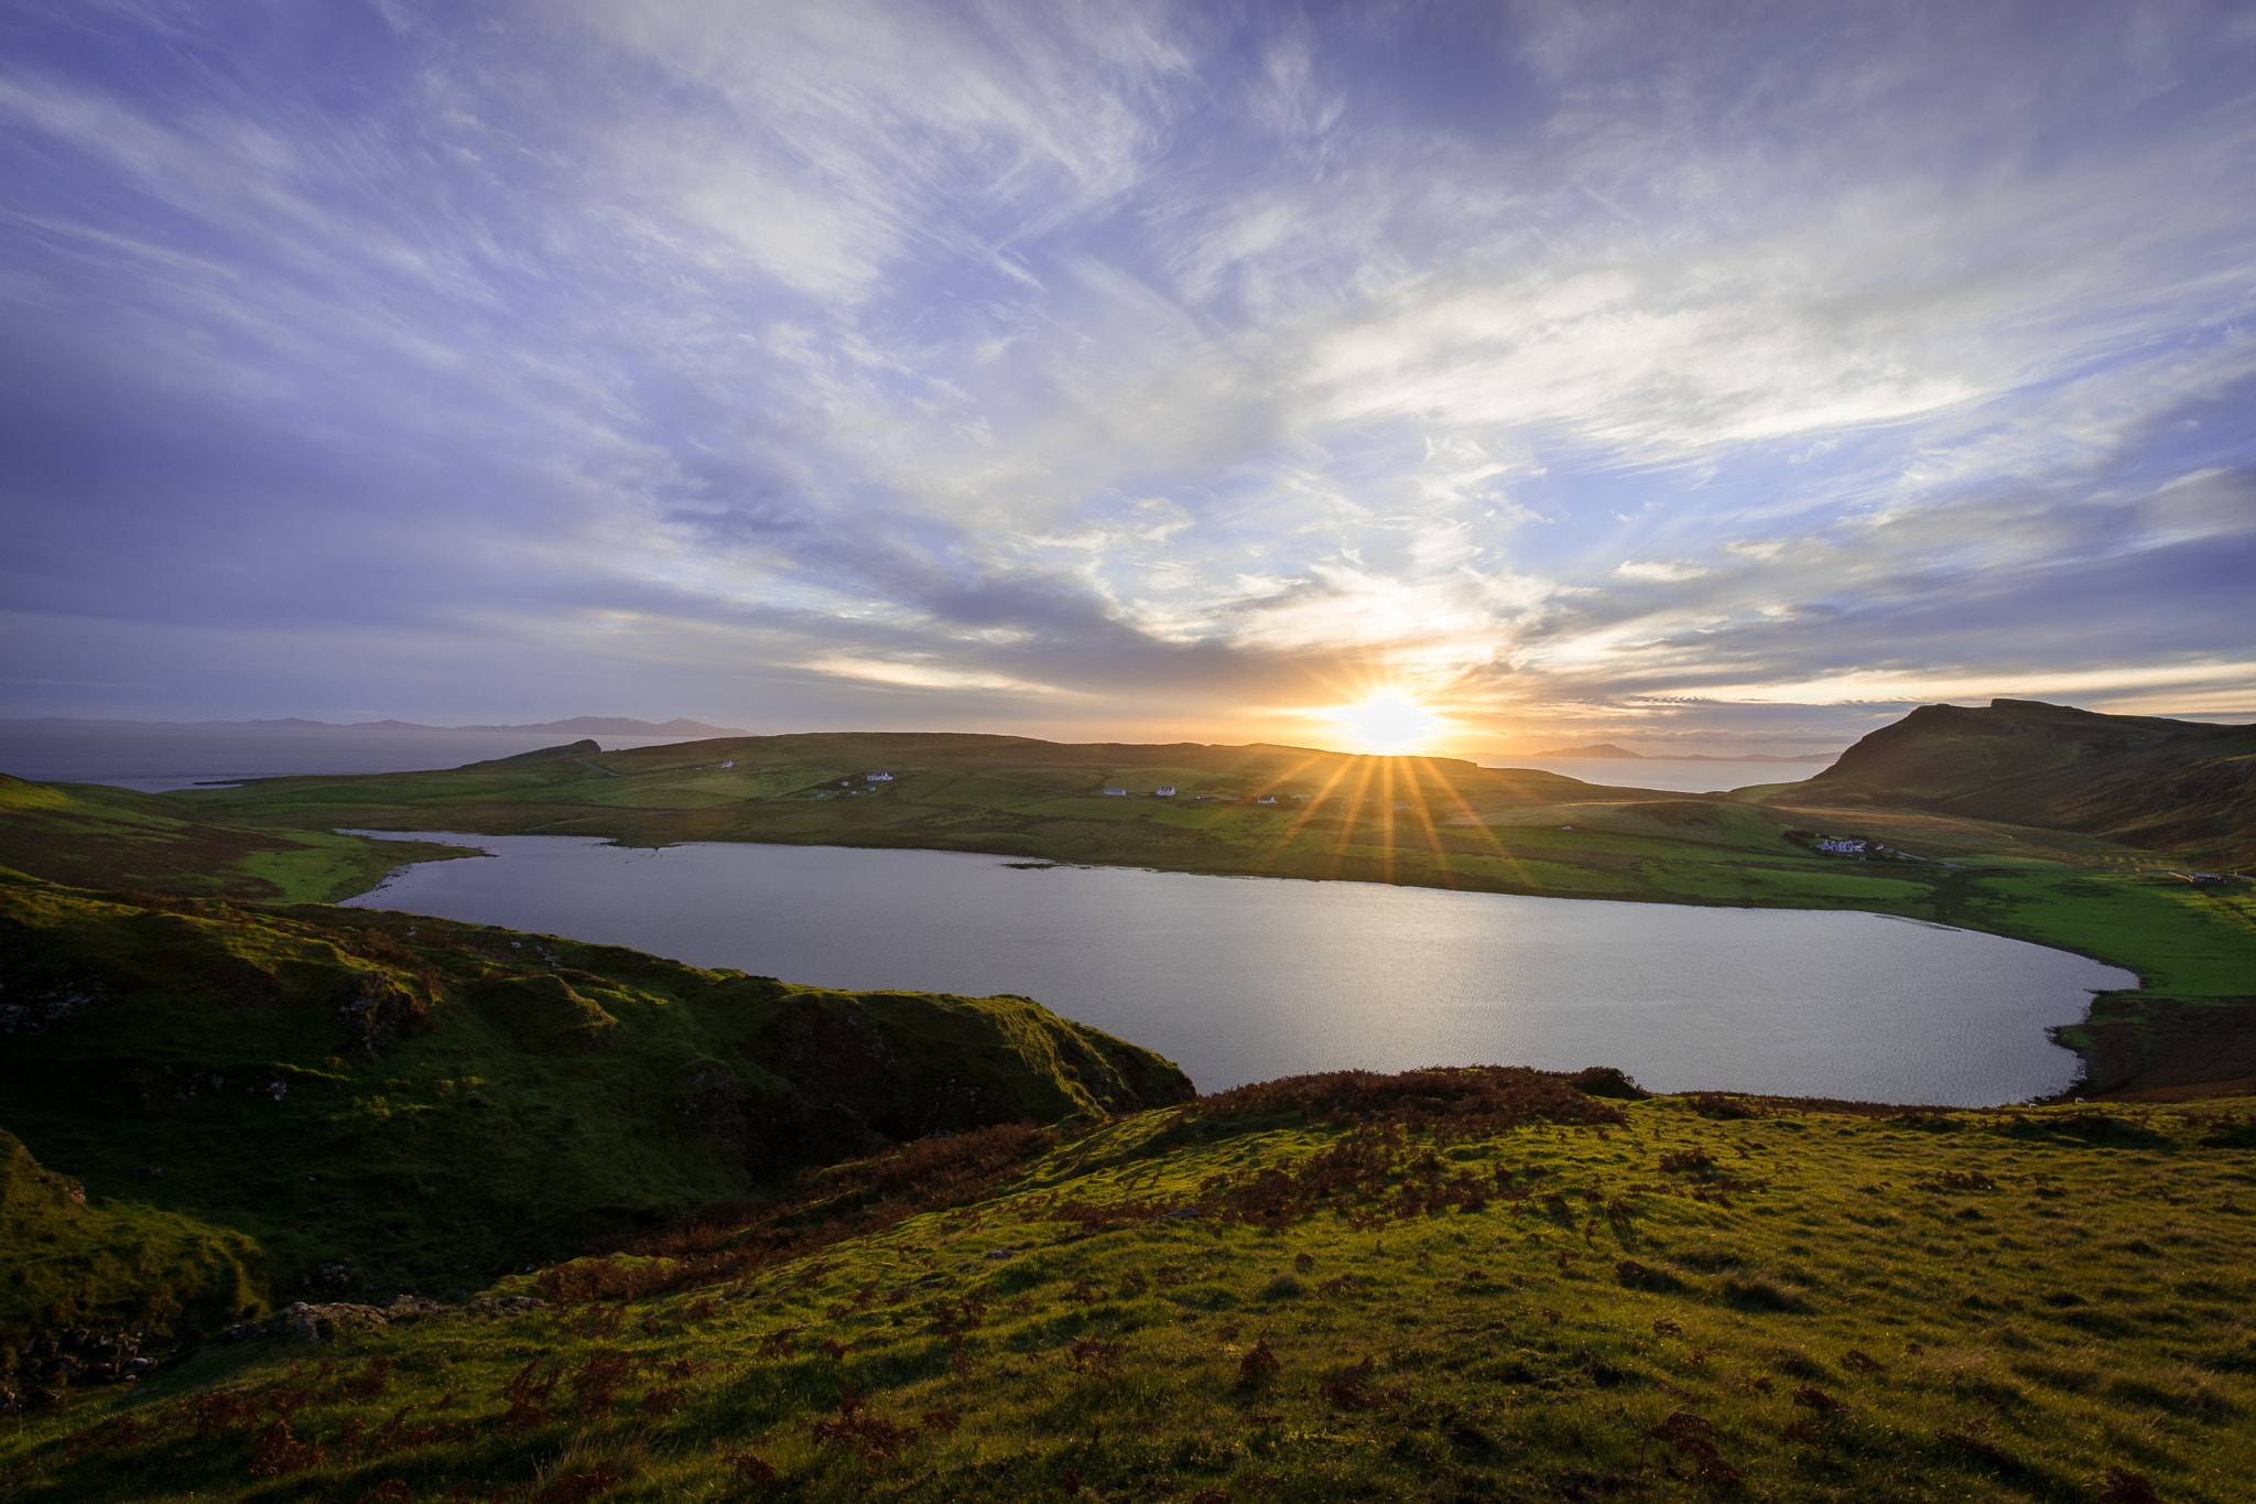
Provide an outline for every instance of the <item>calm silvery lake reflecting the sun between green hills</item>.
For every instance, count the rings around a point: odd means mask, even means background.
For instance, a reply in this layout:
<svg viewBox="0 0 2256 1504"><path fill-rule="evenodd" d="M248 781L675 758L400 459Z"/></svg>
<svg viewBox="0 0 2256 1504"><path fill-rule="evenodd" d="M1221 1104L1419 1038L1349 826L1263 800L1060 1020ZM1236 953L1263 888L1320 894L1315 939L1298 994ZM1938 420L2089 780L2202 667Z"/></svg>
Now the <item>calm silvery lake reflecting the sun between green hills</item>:
<svg viewBox="0 0 2256 1504"><path fill-rule="evenodd" d="M2064 1089L2076 1055L2044 1030L2082 1019L2094 990L2136 985L1872 913L841 846L413 839L494 855L406 868L352 904L826 988L1020 992L1169 1055L1205 1091L1342 1067L1613 1064L1667 1091L1976 1107Z"/></svg>

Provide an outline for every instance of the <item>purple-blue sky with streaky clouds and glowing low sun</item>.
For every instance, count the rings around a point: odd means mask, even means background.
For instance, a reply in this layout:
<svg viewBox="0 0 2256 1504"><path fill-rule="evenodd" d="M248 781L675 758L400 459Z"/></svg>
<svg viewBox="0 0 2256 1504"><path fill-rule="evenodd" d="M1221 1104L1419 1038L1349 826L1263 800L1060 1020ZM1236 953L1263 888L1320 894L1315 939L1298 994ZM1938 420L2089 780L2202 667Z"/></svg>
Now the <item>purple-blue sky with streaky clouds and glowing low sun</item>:
<svg viewBox="0 0 2256 1504"><path fill-rule="evenodd" d="M14 0L0 176L5 717L2256 719L2247 5Z"/></svg>

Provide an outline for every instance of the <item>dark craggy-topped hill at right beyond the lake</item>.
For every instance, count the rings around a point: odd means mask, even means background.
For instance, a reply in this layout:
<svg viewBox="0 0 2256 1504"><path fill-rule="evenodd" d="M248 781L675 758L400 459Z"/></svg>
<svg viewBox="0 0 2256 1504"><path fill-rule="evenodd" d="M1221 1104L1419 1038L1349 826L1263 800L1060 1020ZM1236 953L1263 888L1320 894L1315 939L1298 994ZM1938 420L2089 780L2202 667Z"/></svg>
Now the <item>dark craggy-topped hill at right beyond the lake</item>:
<svg viewBox="0 0 2256 1504"><path fill-rule="evenodd" d="M1967 814L2256 866L2256 726L2033 699L1920 706L1850 746L1791 798Z"/></svg>

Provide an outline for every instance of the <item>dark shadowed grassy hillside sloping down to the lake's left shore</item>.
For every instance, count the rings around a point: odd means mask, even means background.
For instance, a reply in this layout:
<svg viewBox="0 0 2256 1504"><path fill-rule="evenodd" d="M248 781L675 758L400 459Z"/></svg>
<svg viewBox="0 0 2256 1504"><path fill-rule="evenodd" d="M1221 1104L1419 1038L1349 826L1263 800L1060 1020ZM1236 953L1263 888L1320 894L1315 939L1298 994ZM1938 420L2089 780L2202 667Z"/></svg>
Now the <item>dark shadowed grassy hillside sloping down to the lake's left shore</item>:
<svg viewBox="0 0 2256 1504"><path fill-rule="evenodd" d="M56 1209L34 1274L0 1281L0 1342L135 1303L167 1321L478 1288L808 1164L1191 1091L1017 997L826 992L404 913L11 873L0 1037L0 1123L90 1193L83 1215ZM115 1251L129 1233L201 1251L135 1260ZM196 1299L183 1265L210 1272Z"/></svg>

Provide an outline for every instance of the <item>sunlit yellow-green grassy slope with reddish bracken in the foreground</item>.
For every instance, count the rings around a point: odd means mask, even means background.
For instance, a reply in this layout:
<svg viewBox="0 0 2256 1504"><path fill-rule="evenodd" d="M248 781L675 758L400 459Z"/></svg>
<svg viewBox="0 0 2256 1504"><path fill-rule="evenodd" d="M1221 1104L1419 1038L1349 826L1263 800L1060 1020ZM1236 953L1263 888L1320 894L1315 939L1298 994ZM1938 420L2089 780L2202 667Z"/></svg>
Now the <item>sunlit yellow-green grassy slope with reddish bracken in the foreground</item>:
<svg viewBox="0 0 2256 1504"><path fill-rule="evenodd" d="M0 1486L2229 1504L2256 1490L2249 1132L1272 1082L839 1166L512 1281L541 1306L305 1312L323 1342L34 1409Z"/></svg>

